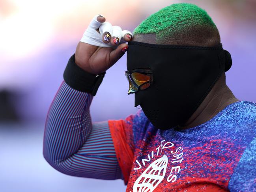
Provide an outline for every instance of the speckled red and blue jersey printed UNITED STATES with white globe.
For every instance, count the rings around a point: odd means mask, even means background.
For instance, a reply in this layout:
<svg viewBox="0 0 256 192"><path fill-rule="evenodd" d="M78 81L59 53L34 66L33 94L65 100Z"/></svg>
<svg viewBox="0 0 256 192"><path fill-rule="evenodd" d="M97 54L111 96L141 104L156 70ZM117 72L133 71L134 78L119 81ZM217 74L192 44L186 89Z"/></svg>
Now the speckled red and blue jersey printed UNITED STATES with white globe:
<svg viewBox="0 0 256 192"><path fill-rule="evenodd" d="M158 130L142 110L108 124L127 192L256 191L255 103L187 130Z"/></svg>

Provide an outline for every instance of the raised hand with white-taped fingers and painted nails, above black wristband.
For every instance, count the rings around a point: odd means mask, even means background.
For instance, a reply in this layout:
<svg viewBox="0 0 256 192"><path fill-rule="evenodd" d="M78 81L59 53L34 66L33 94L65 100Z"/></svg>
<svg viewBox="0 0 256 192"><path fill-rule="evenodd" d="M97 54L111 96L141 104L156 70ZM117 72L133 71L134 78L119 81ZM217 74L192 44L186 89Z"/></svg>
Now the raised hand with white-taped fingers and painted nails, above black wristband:
<svg viewBox="0 0 256 192"><path fill-rule="evenodd" d="M132 33L105 22L96 15L90 22L75 52L75 63L88 73L98 75L116 63L127 50Z"/></svg>

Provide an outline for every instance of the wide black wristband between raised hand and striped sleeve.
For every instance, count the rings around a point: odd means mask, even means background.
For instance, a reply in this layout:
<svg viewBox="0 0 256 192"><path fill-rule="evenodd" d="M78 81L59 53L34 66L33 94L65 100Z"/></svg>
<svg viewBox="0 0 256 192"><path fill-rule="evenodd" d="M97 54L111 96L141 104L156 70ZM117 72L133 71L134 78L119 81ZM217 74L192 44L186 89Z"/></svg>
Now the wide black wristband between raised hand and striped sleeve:
<svg viewBox="0 0 256 192"><path fill-rule="evenodd" d="M75 54L71 56L67 63L63 77L65 82L73 89L78 91L91 93L96 95L96 92L103 80L105 73L93 75L78 67L75 63Z"/></svg>

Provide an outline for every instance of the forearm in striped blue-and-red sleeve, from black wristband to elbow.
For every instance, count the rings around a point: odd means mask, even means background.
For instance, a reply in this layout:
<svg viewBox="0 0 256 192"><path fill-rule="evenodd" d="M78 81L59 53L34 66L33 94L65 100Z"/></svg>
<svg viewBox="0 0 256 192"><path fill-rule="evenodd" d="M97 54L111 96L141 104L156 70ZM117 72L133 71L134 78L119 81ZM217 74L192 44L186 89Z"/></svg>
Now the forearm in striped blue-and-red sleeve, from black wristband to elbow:
<svg viewBox="0 0 256 192"><path fill-rule="evenodd" d="M43 153L52 165L74 154L92 129L89 107L92 95L63 82L47 114Z"/></svg>

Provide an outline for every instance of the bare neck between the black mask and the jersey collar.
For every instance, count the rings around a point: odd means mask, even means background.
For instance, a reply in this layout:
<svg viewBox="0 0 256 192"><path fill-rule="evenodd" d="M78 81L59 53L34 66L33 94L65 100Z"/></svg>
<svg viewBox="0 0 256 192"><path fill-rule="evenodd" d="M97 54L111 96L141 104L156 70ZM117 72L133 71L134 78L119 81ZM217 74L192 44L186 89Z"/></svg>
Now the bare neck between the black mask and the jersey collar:
<svg viewBox="0 0 256 192"><path fill-rule="evenodd" d="M216 116L226 106L236 101L239 100L235 98L232 91L226 86L223 73L192 116L187 122L178 125L178 128L189 129L201 125Z"/></svg>

